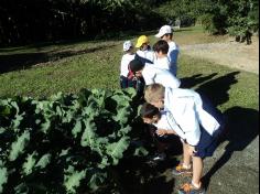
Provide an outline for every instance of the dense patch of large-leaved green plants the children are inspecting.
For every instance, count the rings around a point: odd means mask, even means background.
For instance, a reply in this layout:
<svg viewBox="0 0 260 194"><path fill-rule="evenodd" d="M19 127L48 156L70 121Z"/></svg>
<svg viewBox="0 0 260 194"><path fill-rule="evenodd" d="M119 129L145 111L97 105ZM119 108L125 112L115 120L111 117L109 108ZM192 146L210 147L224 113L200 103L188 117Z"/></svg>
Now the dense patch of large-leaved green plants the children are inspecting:
<svg viewBox="0 0 260 194"><path fill-rule="evenodd" d="M0 99L0 192L97 192L131 147L134 89ZM141 147L133 153L145 154Z"/></svg>

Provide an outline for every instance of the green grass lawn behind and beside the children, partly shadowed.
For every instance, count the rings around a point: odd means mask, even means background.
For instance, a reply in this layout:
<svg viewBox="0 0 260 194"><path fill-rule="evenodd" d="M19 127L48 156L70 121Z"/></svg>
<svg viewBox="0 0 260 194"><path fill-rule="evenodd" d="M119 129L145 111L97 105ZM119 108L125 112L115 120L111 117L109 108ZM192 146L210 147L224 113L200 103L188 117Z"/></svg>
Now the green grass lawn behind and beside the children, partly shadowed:
<svg viewBox="0 0 260 194"><path fill-rule="evenodd" d="M155 31L143 34L149 34L151 44L156 41L153 36ZM126 40L136 43L137 37L127 36ZM176 31L174 39L182 46L220 42L226 37L210 36L202 28L186 28ZM77 93L80 88L119 88L123 41L82 41L0 48L0 97L23 95L42 98L58 91ZM186 55L180 56L178 66L178 77L185 87L206 93L224 109L235 105L258 107L257 75Z"/></svg>

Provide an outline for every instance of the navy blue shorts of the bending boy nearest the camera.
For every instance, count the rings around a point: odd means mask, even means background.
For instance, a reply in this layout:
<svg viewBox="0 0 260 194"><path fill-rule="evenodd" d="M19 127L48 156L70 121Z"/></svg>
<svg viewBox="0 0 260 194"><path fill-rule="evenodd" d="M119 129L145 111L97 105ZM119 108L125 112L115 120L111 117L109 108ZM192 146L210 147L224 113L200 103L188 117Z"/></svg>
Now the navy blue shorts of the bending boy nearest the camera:
<svg viewBox="0 0 260 194"><path fill-rule="evenodd" d="M198 144L196 146L195 157L199 157L202 159L206 157L212 157L214 151L217 149L220 134L225 129L226 119L223 114L212 105L212 103L203 95L201 95L203 99L203 109L210 114L220 125L220 127L210 136L202 126L201 126L201 139Z"/></svg>

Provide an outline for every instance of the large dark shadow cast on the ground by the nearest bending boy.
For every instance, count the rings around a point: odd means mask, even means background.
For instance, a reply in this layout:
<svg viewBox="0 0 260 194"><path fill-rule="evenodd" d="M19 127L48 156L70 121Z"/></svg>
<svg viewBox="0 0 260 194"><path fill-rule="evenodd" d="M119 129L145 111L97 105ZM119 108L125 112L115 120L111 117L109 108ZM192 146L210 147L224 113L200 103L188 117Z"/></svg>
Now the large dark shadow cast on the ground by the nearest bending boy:
<svg viewBox="0 0 260 194"><path fill-rule="evenodd" d="M228 141L228 144L224 154L203 177L206 188L209 185L210 177L229 161L232 153L245 150L259 136L259 111L232 107L224 114L228 118L228 123L221 141ZM258 157L256 155L256 158Z"/></svg>

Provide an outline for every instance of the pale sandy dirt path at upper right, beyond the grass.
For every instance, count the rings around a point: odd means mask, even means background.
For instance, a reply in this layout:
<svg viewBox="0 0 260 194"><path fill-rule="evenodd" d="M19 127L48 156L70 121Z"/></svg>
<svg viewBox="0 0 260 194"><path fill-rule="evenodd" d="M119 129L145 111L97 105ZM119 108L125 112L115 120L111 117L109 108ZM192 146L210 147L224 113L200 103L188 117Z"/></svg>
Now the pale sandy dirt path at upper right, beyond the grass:
<svg viewBox="0 0 260 194"><path fill-rule="evenodd" d="M184 54L206 58L220 65L259 74L259 40L253 37L250 45L232 39L221 43L182 45Z"/></svg>

